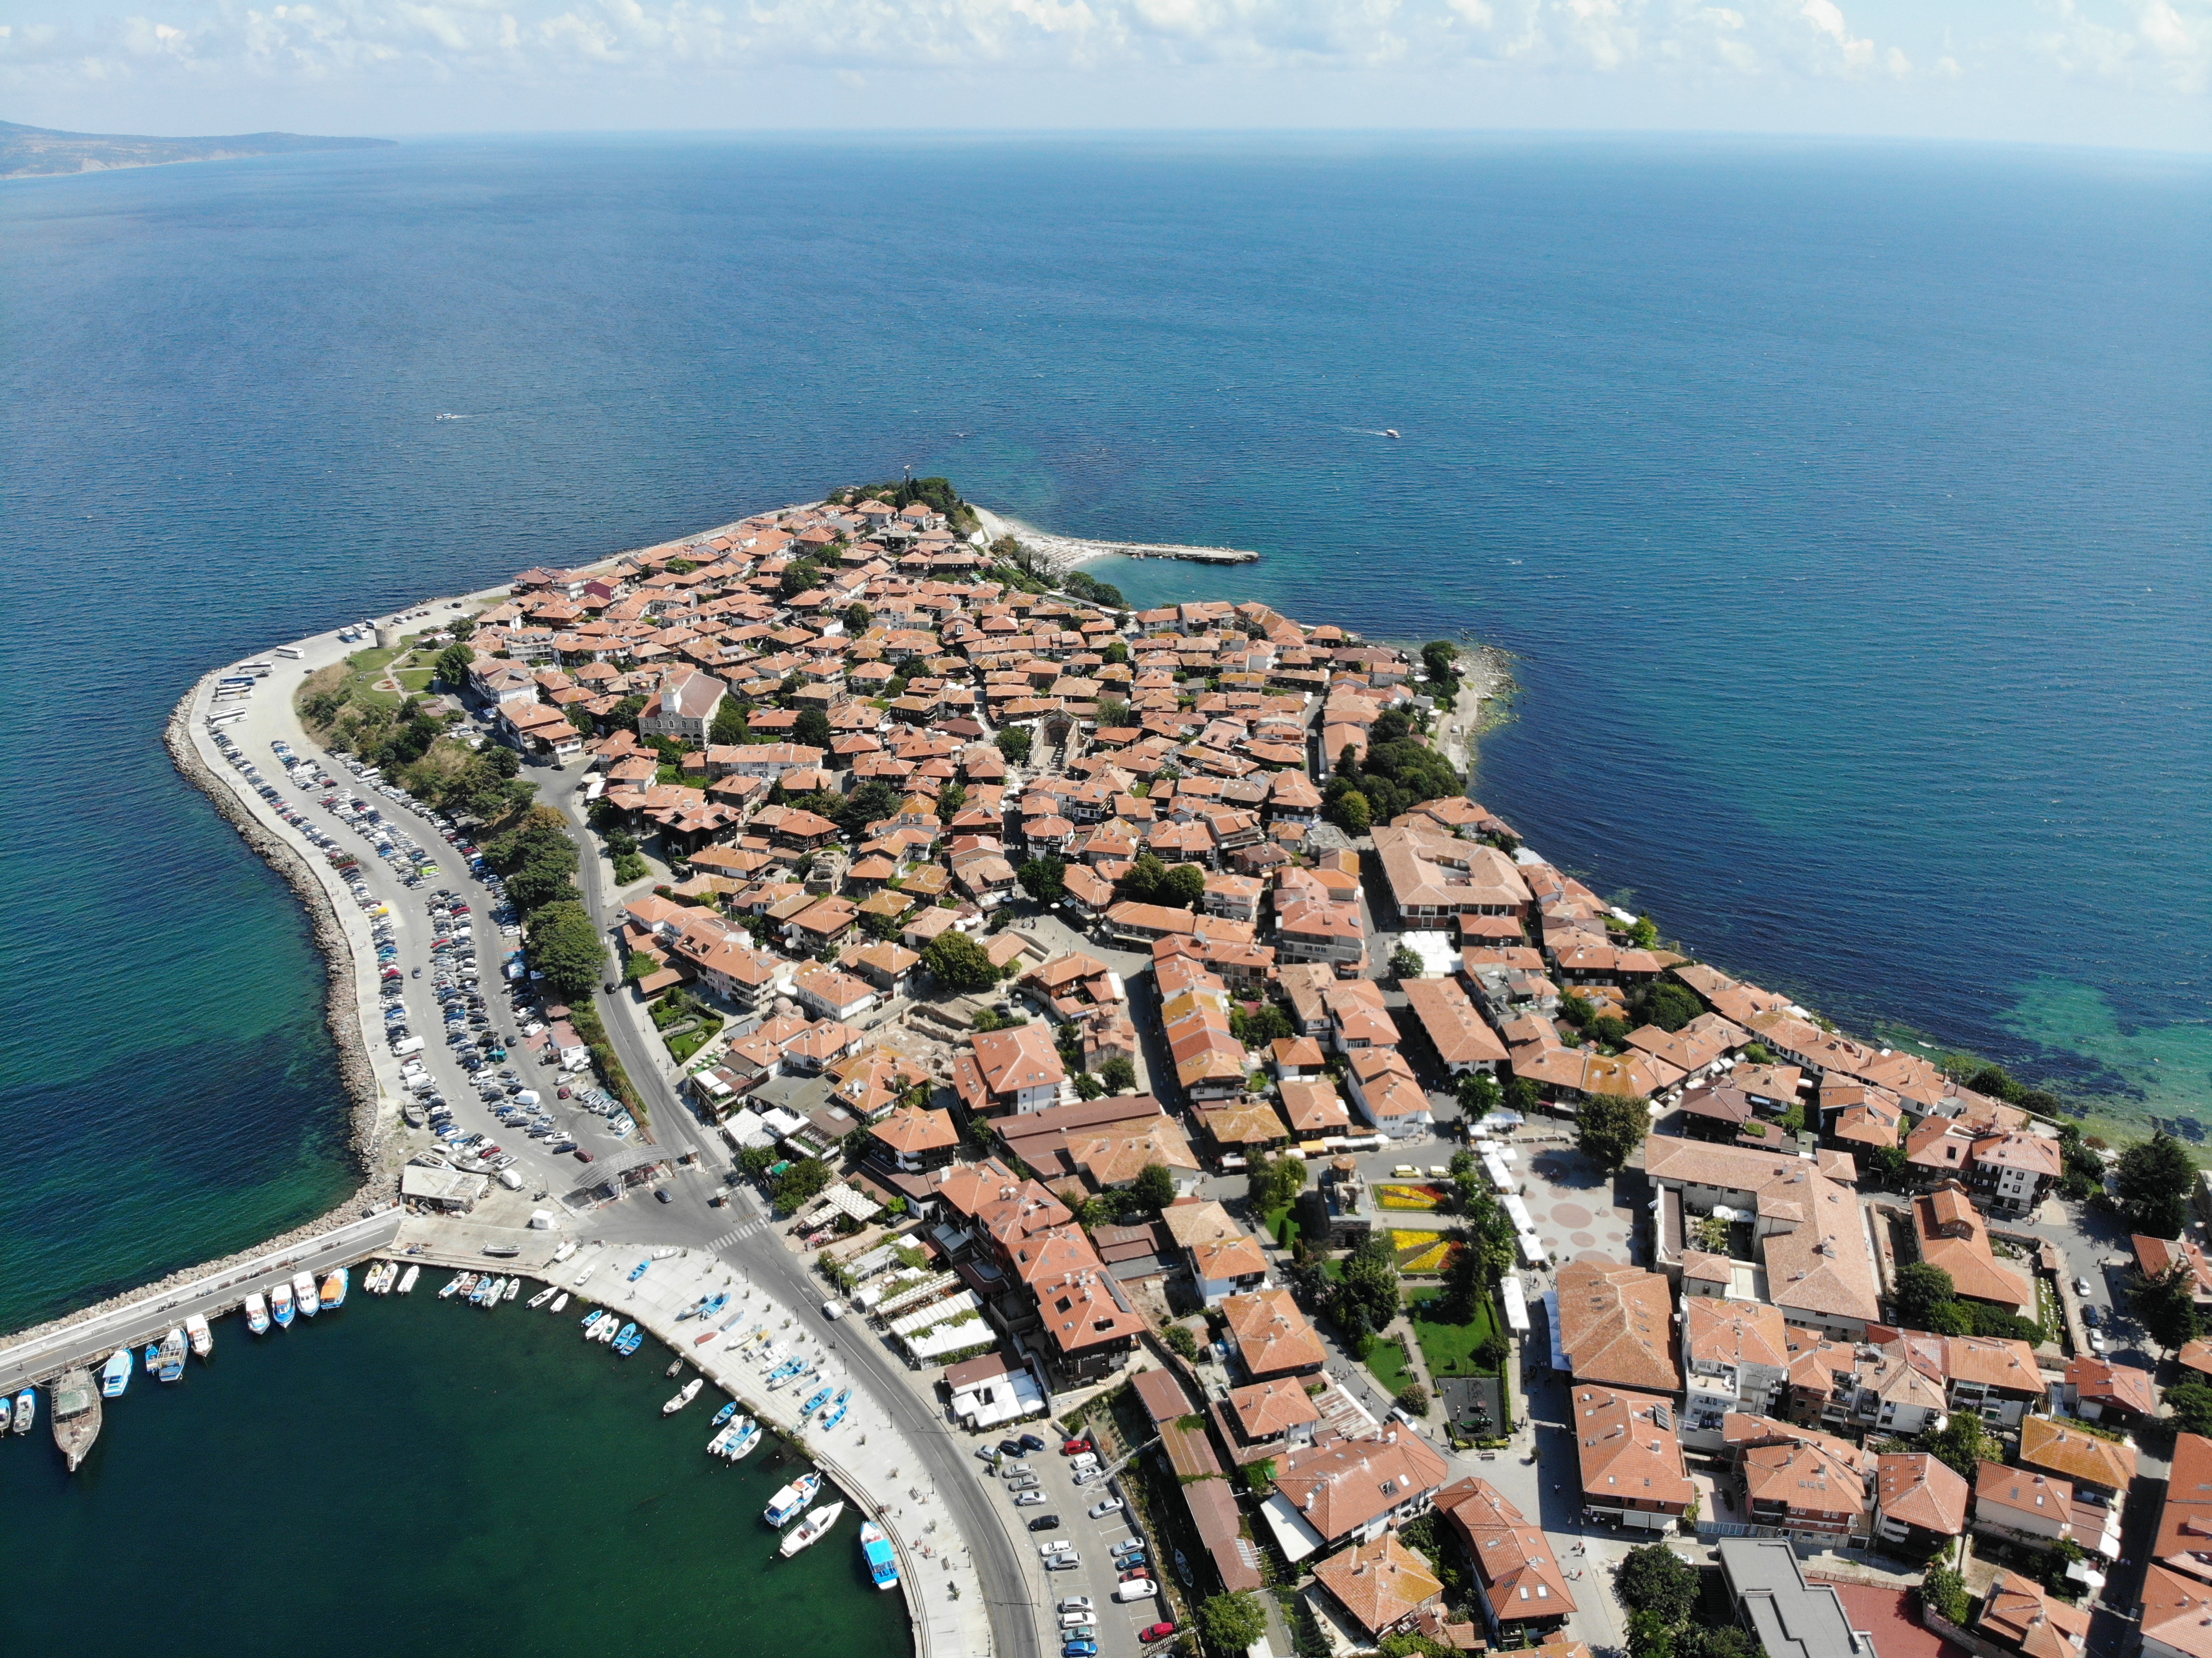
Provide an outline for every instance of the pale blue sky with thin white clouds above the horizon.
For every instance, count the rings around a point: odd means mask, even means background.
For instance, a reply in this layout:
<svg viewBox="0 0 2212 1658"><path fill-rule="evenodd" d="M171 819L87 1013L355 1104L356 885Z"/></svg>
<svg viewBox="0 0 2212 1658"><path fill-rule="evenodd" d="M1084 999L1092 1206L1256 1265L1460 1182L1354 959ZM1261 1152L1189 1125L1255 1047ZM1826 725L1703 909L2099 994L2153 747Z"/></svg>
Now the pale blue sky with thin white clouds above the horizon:
<svg viewBox="0 0 2212 1658"><path fill-rule="evenodd" d="M1559 128L2212 148L2212 0L0 0L80 133Z"/></svg>

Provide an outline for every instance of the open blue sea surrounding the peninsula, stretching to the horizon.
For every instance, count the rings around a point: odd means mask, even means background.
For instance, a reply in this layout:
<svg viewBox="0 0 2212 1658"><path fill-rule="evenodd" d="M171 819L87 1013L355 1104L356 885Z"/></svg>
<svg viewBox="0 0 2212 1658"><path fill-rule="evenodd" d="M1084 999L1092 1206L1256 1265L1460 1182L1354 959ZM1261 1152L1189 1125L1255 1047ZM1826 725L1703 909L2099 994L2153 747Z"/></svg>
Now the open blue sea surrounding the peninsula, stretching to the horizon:
<svg viewBox="0 0 2212 1658"><path fill-rule="evenodd" d="M1133 597L1513 650L1478 791L1548 856L1845 1026L2197 1116L2208 186L471 139L0 188L0 1326L347 1185L305 928L157 743L192 676L905 464L1265 553Z"/></svg>

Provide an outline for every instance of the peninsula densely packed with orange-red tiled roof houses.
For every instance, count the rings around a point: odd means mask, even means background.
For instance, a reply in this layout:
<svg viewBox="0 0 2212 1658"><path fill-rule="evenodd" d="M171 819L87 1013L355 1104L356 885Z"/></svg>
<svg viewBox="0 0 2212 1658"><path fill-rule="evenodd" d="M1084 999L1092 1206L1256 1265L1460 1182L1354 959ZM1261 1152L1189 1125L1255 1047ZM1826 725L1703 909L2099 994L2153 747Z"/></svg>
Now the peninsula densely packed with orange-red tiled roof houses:
<svg viewBox="0 0 2212 1658"><path fill-rule="evenodd" d="M2059 1101L1668 948L1469 798L1478 670L907 480L208 674L173 752L316 915L367 1183L0 1384L347 1260L542 1280L807 1457L922 1654L1566 1658L1666 1534L1754 1627L1851 1649L1801 1543L2004 1645L1969 1532L2051 1479L2051 1607L2141 1578L2188 1158L2106 1192Z"/></svg>

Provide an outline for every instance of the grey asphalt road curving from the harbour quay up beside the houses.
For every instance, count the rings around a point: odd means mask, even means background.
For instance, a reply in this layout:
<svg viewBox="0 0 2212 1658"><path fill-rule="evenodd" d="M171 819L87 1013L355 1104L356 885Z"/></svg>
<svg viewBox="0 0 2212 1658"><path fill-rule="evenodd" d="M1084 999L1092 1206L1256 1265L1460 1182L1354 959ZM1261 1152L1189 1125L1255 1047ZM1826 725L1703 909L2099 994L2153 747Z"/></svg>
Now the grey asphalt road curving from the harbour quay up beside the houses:
<svg viewBox="0 0 2212 1658"><path fill-rule="evenodd" d="M584 825L577 800L580 791L582 778L560 778L553 787L542 789L542 798L546 805L568 814L577 825L582 851L577 873L584 882L584 904L604 931L615 920L611 913L613 893L608 891L595 836ZM688 1225L697 1234L699 1247L714 1249L723 1260L748 1273L774 1280L774 1287L790 1295L792 1307L818 1304L823 1298L821 1280L814 1278L801 1256L794 1256L776 1240L774 1231L763 1229L754 1234L754 1238L765 1240L763 1247L750 1247L752 1238L719 1249L710 1242L726 1236L734 1218L745 1216L743 1205L750 1203L750 1194L745 1189L730 1189L730 1207L710 1209L706 1205L712 1192L726 1189L710 1169L728 1167L728 1156L714 1136L690 1114L690 1108L677 1099L661 1061L659 1041L639 1028L637 1008L628 1001L628 993L599 993L595 1004L615 1054L653 1110L655 1138L664 1145L672 1143L699 1152L699 1163L679 1174L675 1203L650 1218L653 1240L666 1242L677 1225ZM644 1216L639 1218L644 1220ZM982 1578L984 1601L991 1607L998 1658L1042 1658L1044 1643L1037 1636L1040 1601L1024 1570L1024 1554L1009 1536L1004 1517L991 1501L1000 1494L998 1483L978 1479L967 1446L953 1437L942 1415L916 1395L905 1375L905 1364L894 1360L872 1333L854 1326L849 1333L825 1340L830 1340L838 1357L852 1366L852 1373L867 1386L876 1404L883 1406L885 1415L914 1444L916 1455L922 1459L922 1479L933 1486L951 1512L953 1525L960 1528L960 1541L967 1543L975 1561L975 1574ZM889 1497L889 1492L878 1492L878 1497Z"/></svg>

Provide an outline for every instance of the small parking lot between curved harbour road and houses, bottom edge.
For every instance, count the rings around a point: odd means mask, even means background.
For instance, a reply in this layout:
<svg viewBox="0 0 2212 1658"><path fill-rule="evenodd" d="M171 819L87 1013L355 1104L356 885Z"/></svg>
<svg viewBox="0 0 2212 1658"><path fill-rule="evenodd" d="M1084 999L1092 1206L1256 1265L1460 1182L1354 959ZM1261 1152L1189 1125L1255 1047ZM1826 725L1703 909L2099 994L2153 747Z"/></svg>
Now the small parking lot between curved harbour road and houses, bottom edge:
<svg viewBox="0 0 2212 1658"><path fill-rule="evenodd" d="M1044 1448L1015 1444L1024 1433ZM1015 1444L1022 1455L1009 1457L1002 1439ZM1106 1470L1077 1483L1077 1461L1062 1452L1062 1444L1051 1424L1024 1424L1009 1428L1006 1435L984 1437L975 1444L978 1477L1000 1488L1011 1525L1026 1541L1024 1576L1040 1614L1071 1603L1057 1614L1075 1620L1062 1629L1068 1643L1066 1658L1130 1658L1148 1649L1144 1636L1166 1618L1166 1612L1152 1594L1117 1601L1115 1592L1121 1589L1124 1576L1148 1578L1166 1570L1166 1563L1152 1559L1144 1539L1135 1534ZM1093 1514L1099 1503L1113 1503L1115 1512ZM1033 1530L1042 1521L1057 1525ZM1073 1563L1048 1567L1048 1556L1073 1556ZM1084 1601L1088 1605L1079 1605ZM1084 1616L1095 1623L1082 1623Z"/></svg>

